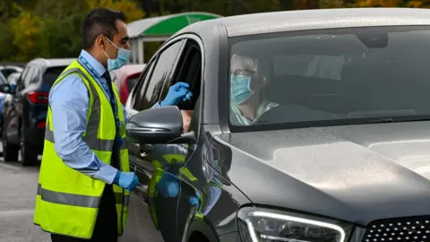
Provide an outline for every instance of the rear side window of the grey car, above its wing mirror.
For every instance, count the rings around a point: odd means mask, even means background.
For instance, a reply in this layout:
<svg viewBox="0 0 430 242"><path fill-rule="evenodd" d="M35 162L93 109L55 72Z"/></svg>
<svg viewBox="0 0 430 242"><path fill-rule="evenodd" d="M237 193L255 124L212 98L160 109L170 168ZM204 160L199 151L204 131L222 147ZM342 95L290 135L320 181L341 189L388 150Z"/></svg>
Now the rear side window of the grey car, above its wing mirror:
<svg viewBox="0 0 430 242"><path fill-rule="evenodd" d="M176 56L183 45L184 40L177 41L173 45L159 53L157 64L151 73L150 81L146 87L141 109L151 108L159 101L159 98L167 93L168 88L164 88L166 83L171 81L173 68L176 63Z"/></svg>

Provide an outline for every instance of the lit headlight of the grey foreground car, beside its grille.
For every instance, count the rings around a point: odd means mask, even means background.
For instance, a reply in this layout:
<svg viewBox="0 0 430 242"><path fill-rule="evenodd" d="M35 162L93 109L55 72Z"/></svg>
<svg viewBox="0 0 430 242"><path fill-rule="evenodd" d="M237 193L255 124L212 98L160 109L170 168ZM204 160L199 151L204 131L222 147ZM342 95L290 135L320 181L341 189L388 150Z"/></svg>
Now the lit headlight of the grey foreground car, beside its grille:
<svg viewBox="0 0 430 242"><path fill-rule="evenodd" d="M352 229L347 222L255 207L237 217L243 242L345 242Z"/></svg>

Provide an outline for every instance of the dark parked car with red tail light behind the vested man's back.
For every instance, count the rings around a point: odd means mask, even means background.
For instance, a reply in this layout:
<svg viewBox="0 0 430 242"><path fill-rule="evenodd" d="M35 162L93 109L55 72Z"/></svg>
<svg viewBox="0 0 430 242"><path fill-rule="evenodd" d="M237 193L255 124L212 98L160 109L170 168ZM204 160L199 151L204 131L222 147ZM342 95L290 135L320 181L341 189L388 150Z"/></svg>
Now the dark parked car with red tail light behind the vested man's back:
<svg viewBox="0 0 430 242"><path fill-rule="evenodd" d="M3 108L4 161L17 161L21 153L22 166L38 163L45 137L48 92L72 61L34 59L25 66L14 90L10 86L2 90L12 94L4 100Z"/></svg>

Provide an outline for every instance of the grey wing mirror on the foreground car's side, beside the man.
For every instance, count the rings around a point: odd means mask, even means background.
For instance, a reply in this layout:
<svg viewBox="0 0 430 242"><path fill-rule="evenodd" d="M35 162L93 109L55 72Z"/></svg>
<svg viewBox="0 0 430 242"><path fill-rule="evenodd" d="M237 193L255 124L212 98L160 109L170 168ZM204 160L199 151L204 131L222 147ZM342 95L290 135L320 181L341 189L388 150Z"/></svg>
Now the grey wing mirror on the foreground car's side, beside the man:
<svg viewBox="0 0 430 242"><path fill-rule="evenodd" d="M188 143L193 132L182 134L182 115L176 106L150 108L130 117L125 125L127 140L132 143Z"/></svg>

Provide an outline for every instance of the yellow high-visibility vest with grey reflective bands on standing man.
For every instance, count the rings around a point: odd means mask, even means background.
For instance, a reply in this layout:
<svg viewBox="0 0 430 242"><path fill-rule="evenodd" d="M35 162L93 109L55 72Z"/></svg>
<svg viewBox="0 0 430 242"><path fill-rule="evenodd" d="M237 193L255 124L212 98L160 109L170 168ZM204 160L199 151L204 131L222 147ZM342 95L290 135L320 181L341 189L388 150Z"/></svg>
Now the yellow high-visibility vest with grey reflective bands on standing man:
<svg viewBox="0 0 430 242"><path fill-rule="evenodd" d="M99 83L76 60L60 74L53 87L72 73L82 78L90 94L87 128L82 139L99 160L110 164L116 138L116 124L110 101ZM125 117L116 85L112 86L121 123L120 134L124 140L120 148L120 170L127 172L130 167L125 143ZM49 233L91 238L105 183L64 164L56 154L55 143L52 110L48 107L34 223ZM122 235L127 220L129 193L120 186L114 185L113 189L116 195L118 235Z"/></svg>

